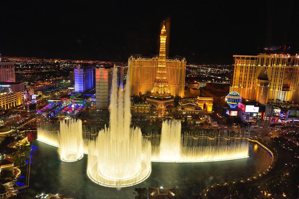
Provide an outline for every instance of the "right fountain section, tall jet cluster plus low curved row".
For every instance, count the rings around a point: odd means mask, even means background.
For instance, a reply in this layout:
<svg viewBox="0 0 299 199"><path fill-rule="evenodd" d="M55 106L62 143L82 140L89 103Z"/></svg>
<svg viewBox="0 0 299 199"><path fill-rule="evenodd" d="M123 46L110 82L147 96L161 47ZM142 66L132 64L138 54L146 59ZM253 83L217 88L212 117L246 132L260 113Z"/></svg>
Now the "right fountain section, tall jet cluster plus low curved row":
<svg viewBox="0 0 299 199"><path fill-rule="evenodd" d="M221 134L221 135L220 135ZM230 132L213 132L207 135L181 136L179 121L164 121L161 137L152 139L151 161L157 162L206 162L247 158L247 139L231 139Z"/></svg>

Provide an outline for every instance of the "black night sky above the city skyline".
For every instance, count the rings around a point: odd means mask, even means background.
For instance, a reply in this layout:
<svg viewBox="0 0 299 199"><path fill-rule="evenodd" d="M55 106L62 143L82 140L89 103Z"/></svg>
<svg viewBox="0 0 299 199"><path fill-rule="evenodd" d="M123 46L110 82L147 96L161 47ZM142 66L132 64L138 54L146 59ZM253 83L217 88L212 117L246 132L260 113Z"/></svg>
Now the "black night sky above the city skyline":
<svg viewBox="0 0 299 199"><path fill-rule="evenodd" d="M159 23L167 16L170 56L189 63L231 64L234 54L299 47L298 6L291 1L97 2L1 1L0 53L127 61L131 53L158 53Z"/></svg>

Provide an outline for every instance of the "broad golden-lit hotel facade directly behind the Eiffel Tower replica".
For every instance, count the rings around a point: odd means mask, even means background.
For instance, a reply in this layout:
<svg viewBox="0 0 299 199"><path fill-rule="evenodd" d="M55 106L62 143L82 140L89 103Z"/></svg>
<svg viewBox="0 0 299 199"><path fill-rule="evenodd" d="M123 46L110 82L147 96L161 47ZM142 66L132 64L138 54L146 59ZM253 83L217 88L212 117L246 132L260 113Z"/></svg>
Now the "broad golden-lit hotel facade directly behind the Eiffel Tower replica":
<svg viewBox="0 0 299 199"><path fill-rule="evenodd" d="M158 57L129 57L131 95L151 92L158 69ZM166 76L171 95L184 97L186 59L166 59Z"/></svg>

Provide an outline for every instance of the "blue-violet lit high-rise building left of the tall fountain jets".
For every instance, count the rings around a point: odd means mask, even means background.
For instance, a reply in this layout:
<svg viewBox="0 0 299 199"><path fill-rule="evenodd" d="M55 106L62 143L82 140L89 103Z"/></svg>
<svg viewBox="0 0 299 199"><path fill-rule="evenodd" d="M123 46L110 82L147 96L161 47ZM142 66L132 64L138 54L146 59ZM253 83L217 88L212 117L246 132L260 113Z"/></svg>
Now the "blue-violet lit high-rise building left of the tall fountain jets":
<svg viewBox="0 0 299 199"><path fill-rule="evenodd" d="M77 66L74 68L75 92L85 92L93 89L93 68Z"/></svg>

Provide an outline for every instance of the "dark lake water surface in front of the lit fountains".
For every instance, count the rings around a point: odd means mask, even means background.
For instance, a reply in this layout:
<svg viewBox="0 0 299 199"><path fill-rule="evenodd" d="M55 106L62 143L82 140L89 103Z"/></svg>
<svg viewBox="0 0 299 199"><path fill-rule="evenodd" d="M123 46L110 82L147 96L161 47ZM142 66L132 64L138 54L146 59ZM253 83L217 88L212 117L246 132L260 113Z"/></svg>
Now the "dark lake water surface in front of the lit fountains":
<svg viewBox="0 0 299 199"><path fill-rule="evenodd" d="M86 175L87 155L76 162L61 162L57 148L34 141L29 188L40 193L60 193L68 198L134 198L134 187L178 187L199 193L219 181L248 178L271 163L271 155L260 146L249 145L249 158L202 163L152 163L152 173L144 182L121 189L93 183ZM22 169L22 175L25 173ZM23 178L24 179L24 178ZM22 183L23 179L19 179Z"/></svg>

